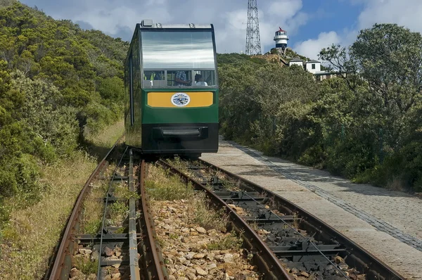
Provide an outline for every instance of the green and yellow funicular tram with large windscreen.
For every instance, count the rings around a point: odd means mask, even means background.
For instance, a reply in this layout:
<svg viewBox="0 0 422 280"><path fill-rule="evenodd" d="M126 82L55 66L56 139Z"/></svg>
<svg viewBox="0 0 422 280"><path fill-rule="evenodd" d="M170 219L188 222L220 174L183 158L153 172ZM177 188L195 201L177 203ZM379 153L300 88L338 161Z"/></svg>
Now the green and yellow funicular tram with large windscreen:
<svg viewBox="0 0 422 280"><path fill-rule="evenodd" d="M218 78L212 25L137 24L125 68L126 144L146 154L218 149Z"/></svg>

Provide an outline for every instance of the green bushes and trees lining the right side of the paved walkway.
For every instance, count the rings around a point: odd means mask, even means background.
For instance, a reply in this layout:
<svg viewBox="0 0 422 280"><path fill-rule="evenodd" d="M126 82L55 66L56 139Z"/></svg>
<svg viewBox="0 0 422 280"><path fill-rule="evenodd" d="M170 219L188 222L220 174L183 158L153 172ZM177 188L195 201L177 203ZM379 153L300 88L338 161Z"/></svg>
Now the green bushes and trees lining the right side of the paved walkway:
<svg viewBox="0 0 422 280"><path fill-rule="evenodd" d="M314 82L295 65L219 55L220 133L354 182L422 191L421 34L373 25L320 58L343 75Z"/></svg>

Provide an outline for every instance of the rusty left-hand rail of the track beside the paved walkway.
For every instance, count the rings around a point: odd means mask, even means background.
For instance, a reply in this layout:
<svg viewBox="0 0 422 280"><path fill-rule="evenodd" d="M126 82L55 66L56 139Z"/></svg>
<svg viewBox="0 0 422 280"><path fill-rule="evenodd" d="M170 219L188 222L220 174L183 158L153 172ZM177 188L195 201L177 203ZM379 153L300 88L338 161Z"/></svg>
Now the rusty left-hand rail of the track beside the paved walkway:
<svg viewBox="0 0 422 280"><path fill-rule="evenodd" d="M233 224L238 228L238 231L241 232L243 241L245 241L249 250L254 253L253 255L255 257L255 261L258 264L258 267L260 267L260 272L265 272L264 279L293 280L293 277L288 274L286 269L281 265L279 259L261 240L260 236L258 236L257 233L245 222L245 220L242 219L242 217L238 215L233 209L231 209L226 202L222 201L221 198L207 189L206 186L196 181L196 179L191 178L188 176L188 174L182 172L177 167L166 163L164 160L158 160L157 163L161 167L170 170L170 172L173 174L179 175L179 177L181 177L181 179L183 179L186 184L191 182L193 187L199 189L200 191L204 191L206 196L210 198L210 200L215 203L219 209L224 209L226 214L228 214L231 218L231 222L233 222Z"/></svg>

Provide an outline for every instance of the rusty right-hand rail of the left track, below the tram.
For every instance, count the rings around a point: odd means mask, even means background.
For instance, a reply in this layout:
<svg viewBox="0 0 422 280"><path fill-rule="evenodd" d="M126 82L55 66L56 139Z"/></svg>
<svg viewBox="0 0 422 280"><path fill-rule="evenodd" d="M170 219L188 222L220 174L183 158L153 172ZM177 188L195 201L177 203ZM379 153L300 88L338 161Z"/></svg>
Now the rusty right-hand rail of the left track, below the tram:
<svg viewBox="0 0 422 280"><path fill-rule="evenodd" d="M141 240L138 243L138 250L142 253L139 265L143 266L143 275L146 279L167 280L169 276L162 258L160 246L155 241L157 234L153 226L153 217L151 215L150 205L148 203L148 194L145 189L146 164L142 160L139 169L139 192L141 198L141 217L139 218L138 227L141 233Z"/></svg>

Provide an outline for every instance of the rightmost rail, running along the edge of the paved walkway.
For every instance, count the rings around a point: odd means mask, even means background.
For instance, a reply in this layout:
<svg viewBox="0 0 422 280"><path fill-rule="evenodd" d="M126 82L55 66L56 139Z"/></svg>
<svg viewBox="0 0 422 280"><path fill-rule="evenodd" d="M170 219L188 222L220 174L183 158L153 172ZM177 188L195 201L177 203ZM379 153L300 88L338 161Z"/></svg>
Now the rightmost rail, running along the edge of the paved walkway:
<svg viewBox="0 0 422 280"><path fill-rule="evenodd" d="M264 189L258 184L250 182L248 179L244 179L237 174L224 170L221 167L217 167L212 163L208 163L206 160L199 159L199 162L211 170L224 174L226 177L229 177L229 179L235 179L236 181L240 182L241 186L243 187L248 187L259 193L265 193L267 196L269 196L269 198L274 198L274 200L279 203L279 206L283 208L283 210L286 210L286 212L297 212L300 217L304 219L304 222L307 223L309 228L313 228L316 231L319 231L320 234L324 233L325 235L330 236L345 246L348 253L350 254L350 257L354 261L354 264L357 265L359 269L362 269L362 272L366 273L367 276L370 277L369 279L405 279L398 272L395 272L395 270L388 267L388 265L379 260L378 257L369 253L369 251L365 250L362 248L362 246L359 246L359 244L355 243L347 236L344 236L330 225L326 224L326 222L323 222L321 219L315 217L303 208L295 205L295 203L288 201L286 198L283 198L276 193Z"/></svg>

